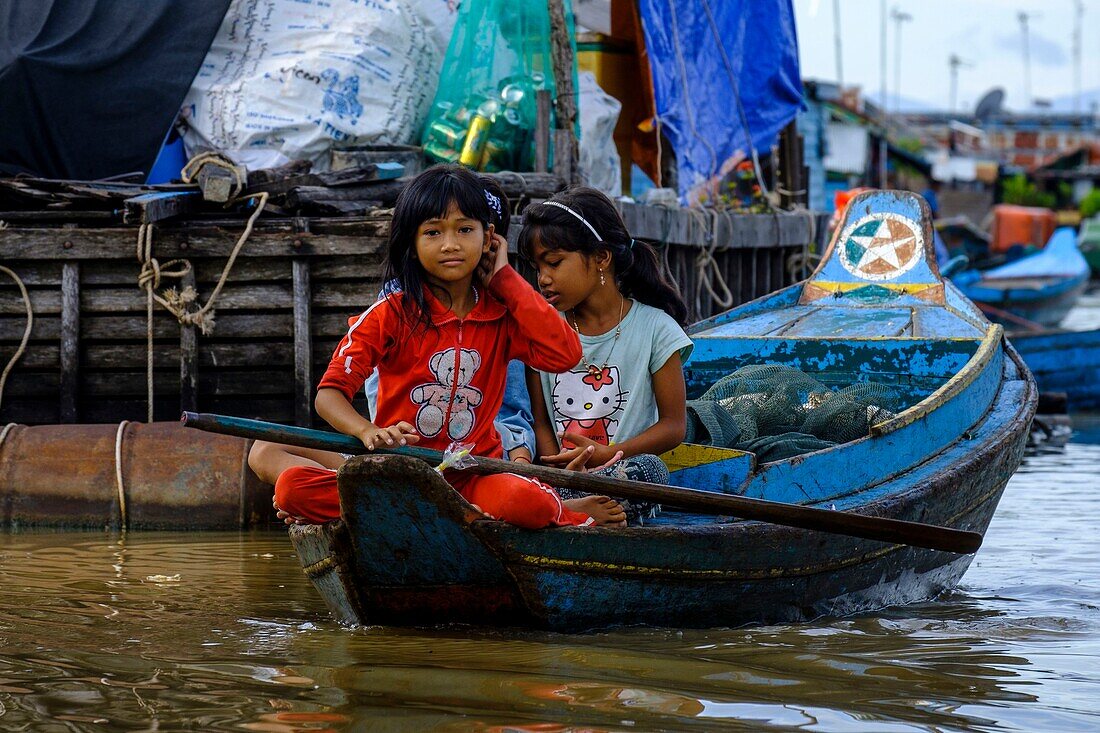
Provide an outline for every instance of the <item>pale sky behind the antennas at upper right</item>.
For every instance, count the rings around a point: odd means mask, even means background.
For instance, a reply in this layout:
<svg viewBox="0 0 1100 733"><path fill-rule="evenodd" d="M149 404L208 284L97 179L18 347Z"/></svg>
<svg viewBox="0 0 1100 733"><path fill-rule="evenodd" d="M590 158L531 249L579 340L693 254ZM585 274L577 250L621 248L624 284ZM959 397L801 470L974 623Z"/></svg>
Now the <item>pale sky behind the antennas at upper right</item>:
<svg viewBox="0 0 1100 733"><path fill-rule="evenodd" d="M958 110L972 110L992 87L1005 91L1005 107L1027 109L1024 95L1023 33L1018 15L1026 12L1031 50L1032 97L1074 109L1075 0L793 0L802 77L837 80L834 7L840 7L845 86L858 85L877 99L881 88L882 12L897 8L912 17L901 30L902 109L950 107L948 58L969 66L958 70ZM1082 111L1100 101L1100 0L1082 0ZM887 98L891 109L897 24L887 22Z"/></svg>

